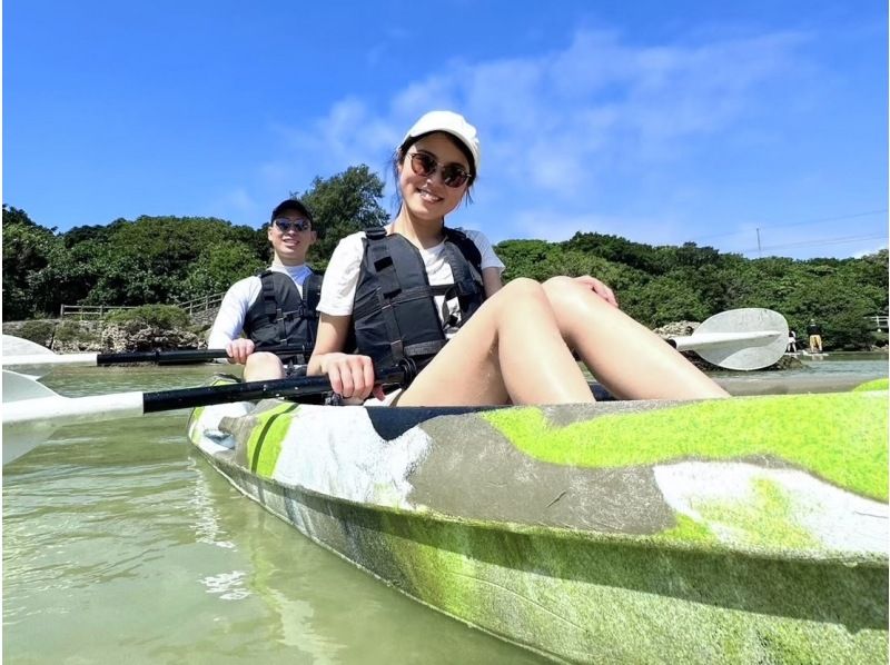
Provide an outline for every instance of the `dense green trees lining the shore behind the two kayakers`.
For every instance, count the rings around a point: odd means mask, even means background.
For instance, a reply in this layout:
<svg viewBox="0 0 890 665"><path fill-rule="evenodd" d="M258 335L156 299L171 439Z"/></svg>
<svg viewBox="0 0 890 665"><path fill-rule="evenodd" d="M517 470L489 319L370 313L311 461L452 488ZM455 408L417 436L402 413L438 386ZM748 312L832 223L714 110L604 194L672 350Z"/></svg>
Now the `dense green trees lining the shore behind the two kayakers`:
<svg viewBox="0 0 890 665"><path fill-rule="evenodd" d="M322 239L312 262L324 267L343 236L385 224L383 182L353 167L295 193ZM506 279L590 274L619 294L622 308L654 327L703 320L724 309L768 307L798 337L813 317L828 348L886 341L868 317L887 314L888 252L857 259L745 259L711 247L652 247L578 232L564 242L505 240L496 251ZM184 302L218 294L269 260L266 229L199 217L139 217L67 232L40 226L3 205L3 320L57 315L66 305Z"/></svg>

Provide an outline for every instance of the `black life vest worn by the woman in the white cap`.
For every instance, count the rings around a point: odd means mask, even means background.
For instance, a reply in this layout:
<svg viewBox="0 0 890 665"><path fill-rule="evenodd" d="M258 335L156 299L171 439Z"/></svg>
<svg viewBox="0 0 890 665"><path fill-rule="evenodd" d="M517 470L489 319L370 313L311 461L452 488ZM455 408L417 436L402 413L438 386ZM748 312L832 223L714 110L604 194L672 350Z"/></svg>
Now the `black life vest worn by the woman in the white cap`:
<svg viewBox="0 0 890 665"><path fill-rule="evenodd" d="M431 286L419 250L404 236L385 228L365 231L365 251L353 305L353 330L358 353L377 367L404 359L422 368L442 350L447 339L435 296L457 298L463 326L485 299L482 256L461 231L444 228L445 260L454 284ZM447 311L445 312L447 315Z"/></svg>

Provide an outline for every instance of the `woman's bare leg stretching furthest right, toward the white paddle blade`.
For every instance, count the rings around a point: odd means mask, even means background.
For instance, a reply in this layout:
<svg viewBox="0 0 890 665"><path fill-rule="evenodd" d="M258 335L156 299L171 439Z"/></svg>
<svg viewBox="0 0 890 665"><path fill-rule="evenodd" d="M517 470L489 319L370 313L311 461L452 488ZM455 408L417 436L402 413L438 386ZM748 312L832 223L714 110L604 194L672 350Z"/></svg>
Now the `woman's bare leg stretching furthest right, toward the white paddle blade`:
<svg viewBox="0 0 890 665"><path fill-rule="evenodd" d="M560 331L597 380L627 399L726 397L657 335L571 277L544 284Z"/></svg>

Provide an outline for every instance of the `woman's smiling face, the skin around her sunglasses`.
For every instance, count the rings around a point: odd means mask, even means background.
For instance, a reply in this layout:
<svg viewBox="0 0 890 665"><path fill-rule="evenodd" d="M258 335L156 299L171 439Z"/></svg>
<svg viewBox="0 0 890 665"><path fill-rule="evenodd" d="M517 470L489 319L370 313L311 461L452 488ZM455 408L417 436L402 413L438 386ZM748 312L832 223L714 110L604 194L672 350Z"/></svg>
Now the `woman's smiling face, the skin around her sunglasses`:
<svg viewBox="0 0 890 665"><path fill-rule="evenodd" d="M415 173L412 156L422 153L432 157L437 168L428 176ZM456 165L467 173L472 172L464 153L444 132L434 132L415 141L407 149L398 166L398 185L402 200L412 217L425 220L441 220L461 202L469 180L459 187L448 187L442 179L444 167Z"/></svg>

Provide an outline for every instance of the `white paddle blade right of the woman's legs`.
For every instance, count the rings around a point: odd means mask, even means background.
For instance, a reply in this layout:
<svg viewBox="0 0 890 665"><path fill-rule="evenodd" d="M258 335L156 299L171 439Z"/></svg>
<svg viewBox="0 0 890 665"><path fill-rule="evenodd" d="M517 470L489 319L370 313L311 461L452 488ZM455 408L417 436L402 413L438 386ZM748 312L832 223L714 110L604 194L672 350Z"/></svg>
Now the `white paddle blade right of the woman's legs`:
<svg viewBox="0 0 890 665"><path fill-rule="evenodd" d="M731 334L756 332L751 339L730 340ZM716 336L716 337L714 337ZM719 341L720 336L726 336ZM690 341L701 337L703 344L695 348L702 358L726 369L749 371L774 365L788 347L788 321L781 314L761 307L731 309L712 316L690 336Z"/></svg>

